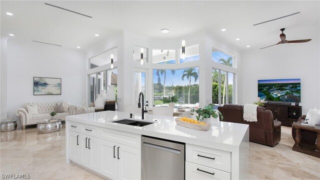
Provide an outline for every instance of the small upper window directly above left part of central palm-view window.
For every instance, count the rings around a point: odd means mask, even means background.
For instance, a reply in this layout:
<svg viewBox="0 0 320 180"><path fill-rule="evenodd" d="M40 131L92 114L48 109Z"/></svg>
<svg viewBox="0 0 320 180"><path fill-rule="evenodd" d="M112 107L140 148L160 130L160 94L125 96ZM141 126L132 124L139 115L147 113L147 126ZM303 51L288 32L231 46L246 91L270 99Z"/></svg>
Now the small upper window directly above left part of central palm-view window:
<svg viewBox="0 0 320 180"><path fill-rule="evenodd" d="M175 63L175 50L152 49L152 63Z"/></svg>

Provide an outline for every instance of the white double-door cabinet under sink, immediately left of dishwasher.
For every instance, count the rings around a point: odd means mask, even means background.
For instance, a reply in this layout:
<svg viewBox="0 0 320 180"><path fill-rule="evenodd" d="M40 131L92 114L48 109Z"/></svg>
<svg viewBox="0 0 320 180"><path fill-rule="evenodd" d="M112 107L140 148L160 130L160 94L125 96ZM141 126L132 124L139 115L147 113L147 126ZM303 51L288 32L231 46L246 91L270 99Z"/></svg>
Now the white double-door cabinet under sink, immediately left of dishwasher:
<svg viewBox="0 0 320 180"><path fill-rule="evenodd" d="M141 150L102 139L101 174L111 179L140 179Z"/></svg>

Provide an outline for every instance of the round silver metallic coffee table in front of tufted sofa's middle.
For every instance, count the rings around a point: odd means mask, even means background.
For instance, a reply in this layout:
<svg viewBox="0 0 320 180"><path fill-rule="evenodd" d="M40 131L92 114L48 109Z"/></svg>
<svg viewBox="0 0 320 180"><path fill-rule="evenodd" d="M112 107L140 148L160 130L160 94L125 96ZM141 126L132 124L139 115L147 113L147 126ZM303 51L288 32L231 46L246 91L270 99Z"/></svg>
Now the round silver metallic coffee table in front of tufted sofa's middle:
<svg viewBox="0 0 320 180"><path fill-rule="evenodd" d="M38 133L50 133L61 130L61 119L50 119L48 121L38 120L36 128Z"/></svg>

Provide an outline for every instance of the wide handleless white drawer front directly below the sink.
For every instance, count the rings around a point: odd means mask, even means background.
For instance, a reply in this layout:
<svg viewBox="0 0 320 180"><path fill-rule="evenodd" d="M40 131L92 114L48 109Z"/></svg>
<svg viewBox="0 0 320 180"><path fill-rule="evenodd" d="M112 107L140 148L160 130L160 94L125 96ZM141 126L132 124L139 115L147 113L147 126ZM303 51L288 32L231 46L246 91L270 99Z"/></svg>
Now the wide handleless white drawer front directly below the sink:
<svg viewBox="0 0 320 180"><path fill-rule="evenodd" d="M105 140L110 140L112 142L117 142L120 144L136 147L139 149L141 148L140 134L114 130L109 128L103 128L101 137Z"/></svg>

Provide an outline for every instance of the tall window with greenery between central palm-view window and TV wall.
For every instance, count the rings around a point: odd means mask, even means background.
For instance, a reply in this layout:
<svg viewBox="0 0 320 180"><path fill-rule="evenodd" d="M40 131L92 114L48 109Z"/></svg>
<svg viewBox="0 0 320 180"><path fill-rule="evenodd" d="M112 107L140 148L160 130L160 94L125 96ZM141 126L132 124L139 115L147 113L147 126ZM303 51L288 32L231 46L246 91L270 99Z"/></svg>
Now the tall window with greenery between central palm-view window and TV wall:
<svg viewBox="0 0 320 180"><path fill-rule="evenodd" d="M234 73L212 69L212 103L216 105L233 103Z"/></svg>

